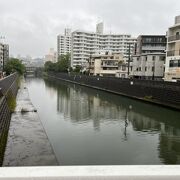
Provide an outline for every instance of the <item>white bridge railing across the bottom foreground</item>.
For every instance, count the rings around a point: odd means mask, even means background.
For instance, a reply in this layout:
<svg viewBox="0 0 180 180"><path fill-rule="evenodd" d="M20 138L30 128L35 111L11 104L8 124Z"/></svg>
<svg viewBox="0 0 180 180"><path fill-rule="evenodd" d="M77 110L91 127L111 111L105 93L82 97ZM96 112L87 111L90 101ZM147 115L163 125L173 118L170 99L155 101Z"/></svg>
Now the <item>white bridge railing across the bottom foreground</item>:
<svg viewBox="0 0 180 180"><path fill-rule="evenodd" d="M0 180L180 180L180 166L2 167Z"/></svg>

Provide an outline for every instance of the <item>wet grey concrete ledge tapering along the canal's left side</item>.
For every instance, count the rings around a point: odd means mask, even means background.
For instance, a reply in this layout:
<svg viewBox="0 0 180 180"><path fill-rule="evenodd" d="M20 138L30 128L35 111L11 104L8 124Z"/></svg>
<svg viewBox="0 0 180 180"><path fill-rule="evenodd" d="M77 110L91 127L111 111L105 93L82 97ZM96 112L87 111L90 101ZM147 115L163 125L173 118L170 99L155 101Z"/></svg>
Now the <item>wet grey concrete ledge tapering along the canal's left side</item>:
<svg viewBox="0 0 180 180"><path fill-rule="evenodd" d="M58 165L57 159L23 82L11 117L3 166L50 165Z"/></svg>

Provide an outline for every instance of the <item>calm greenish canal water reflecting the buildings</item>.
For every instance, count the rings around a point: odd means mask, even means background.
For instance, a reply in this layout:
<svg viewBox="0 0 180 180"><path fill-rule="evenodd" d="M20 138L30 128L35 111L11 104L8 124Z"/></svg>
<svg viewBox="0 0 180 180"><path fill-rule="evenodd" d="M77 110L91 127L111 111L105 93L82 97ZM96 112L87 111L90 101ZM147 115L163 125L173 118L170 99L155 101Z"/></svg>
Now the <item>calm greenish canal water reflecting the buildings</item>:
<svg viewBox="0 0 180 180"><path fill-rule="evenodd" d="M59 165L180 164L180 112L63 81L26 81Z"/></svg>

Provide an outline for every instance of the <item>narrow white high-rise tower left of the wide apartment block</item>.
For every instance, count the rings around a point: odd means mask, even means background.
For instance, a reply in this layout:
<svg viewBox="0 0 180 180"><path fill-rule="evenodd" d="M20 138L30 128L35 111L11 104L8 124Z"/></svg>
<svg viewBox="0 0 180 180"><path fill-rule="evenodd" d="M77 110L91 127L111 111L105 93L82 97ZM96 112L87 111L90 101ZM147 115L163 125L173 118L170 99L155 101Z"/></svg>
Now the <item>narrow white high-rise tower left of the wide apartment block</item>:
<svg viewBox="0 0 180 180"><path fill-rule="evenodd" d="M71 53L71 29L65 29L64 35L57 36L57 58Z"/></svg>

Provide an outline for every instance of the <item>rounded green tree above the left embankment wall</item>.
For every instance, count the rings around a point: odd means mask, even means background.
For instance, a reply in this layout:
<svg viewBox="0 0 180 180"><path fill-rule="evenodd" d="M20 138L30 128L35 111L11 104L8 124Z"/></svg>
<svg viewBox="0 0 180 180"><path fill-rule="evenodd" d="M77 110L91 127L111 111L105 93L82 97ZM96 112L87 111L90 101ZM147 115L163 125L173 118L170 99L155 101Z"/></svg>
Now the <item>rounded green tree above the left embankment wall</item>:
<svg viewBox="0 0 180 180"><path fill-rule="evenodd" d="M14 72L18 72L20 75L22 75L25 71L25 66L19 59L10 58L9 61L6 63L4 69L7 75Z"/></svg>

